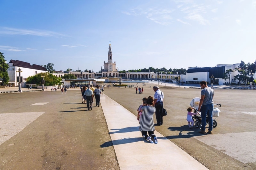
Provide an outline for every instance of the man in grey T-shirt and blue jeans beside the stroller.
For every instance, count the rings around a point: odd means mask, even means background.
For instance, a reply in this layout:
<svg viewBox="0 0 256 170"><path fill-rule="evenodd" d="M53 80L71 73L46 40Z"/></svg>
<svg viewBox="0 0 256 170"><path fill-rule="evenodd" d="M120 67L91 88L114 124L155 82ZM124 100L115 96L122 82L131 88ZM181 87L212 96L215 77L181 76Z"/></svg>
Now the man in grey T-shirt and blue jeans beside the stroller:
<svg viewBox="0 0 256 170"><path fill-rule="evenodd" d="M199 133L205 134L206 126L206 115L209 122L208 134L212 134L212 110L213 110L213 96L214 91L212 88L207 86L206 81L201 81L199 83L201 90L201 98L198 106L198 112L201 111L202 117L202 127Z"/></svg>

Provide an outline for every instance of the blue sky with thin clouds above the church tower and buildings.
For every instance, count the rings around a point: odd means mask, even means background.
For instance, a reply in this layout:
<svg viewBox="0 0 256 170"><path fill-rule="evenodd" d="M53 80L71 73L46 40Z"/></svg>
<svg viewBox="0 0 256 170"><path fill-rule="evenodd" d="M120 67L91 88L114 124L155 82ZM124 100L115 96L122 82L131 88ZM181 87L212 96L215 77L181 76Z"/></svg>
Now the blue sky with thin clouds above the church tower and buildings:
<svg viewBox="0 0 256 170"><path fill-rule="evenodd" d="M0 0L0 52L55 70L256 60L256 0Z"/></svg>

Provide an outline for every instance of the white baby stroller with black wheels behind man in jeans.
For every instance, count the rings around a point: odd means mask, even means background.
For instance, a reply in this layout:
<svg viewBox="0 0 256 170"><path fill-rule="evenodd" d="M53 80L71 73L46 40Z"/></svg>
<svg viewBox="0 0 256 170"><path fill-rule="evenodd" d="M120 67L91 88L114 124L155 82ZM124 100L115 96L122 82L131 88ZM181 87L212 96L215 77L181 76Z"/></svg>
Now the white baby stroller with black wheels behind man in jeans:
<svg viewBox="0 0 256 170"><path fill-rule="evenodd" d="M195 107L196 109L195 110L195 113L198 112L198 106L199 106L199 102L200 102L200 98L199 97L196 97L194 99L192 99L192 101L190 102L190 106L191 107ZM214 107L213 108L213 111L212 111L212 127L215 128L217 127L217 122L216 122L216 118L220 115L220 107L221 107L221 104L213 104L213 105L217 105L217 107ZM197 115L193 115L193 120L194 120L194 124L196 126L196 128L199 128L200 124L202 124L202 117L201 117L201 113L198 112ZM206 125L208 124L208 118L206 116Z"/></svg>

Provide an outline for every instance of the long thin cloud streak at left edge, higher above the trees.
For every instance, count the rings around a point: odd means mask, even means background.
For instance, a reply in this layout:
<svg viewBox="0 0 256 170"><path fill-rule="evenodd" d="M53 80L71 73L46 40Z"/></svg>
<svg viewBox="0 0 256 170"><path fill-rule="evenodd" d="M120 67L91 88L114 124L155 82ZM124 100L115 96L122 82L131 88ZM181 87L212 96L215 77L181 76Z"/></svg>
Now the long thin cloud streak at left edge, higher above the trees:
<svg viewBox="0 0 256 170"><path fill-rule="evenodd" d="M56 33L53 31L45 30L28 30L28 29L18 29L10 27L0 27L0 34L8 35L34 35L34 36L43 36L43 37L67 37L67 35Z"/></svg>

